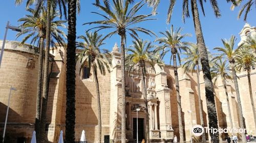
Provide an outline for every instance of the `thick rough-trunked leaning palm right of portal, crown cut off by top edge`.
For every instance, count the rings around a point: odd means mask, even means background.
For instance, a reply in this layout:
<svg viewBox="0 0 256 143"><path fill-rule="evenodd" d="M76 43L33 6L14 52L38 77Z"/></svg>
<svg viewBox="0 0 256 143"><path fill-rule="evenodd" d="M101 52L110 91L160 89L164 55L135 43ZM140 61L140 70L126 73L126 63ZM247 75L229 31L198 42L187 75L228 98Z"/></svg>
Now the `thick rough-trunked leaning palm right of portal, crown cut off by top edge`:
<svg viewBox="0 0 256 143"><path fill-rule="evenodd" d="M160 3L160 0L145 0L145 1L148 3L148 5L153 7L153 14L155 14L156 9ZM234 1L234 0L231 0L231 1ZM218 118L217 118L215 98L214 98L214 86L212 85L212 82L211 82L209 60L208 60L207 49L205 46L203 32L201 28L197 2L199 2L202 9L202 13L203 15L205 15L203 0L190 0L191 12L192 12L193 21L194 21L194 28L195 28L195 33L197 37L197 45L199 49L199 55L200 55L202 70L204 75L203 77L204 77L204 83L205 83L205 96L206 96L206 105L207 105L207 111L208 111L209 127L218 129ZM168 13L167 13L168 23L170 22L170 19L172 17L175 4L176 4L176 0L172 0L169 3ZM212 6L212 9L214 10L215 16L220 17L221 14L220 14L217 0L211 0L210 4ZM183 0L183 5L182 5L183 21L185 21L185 17L189 17L189 16L190 16L189 0ZM215 133L215 134L210 133L210 136L211 136L211 139L214 141L214 143L219 142L219 133Z"/></svg>

